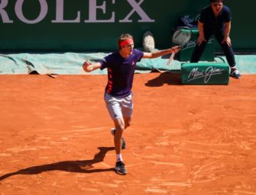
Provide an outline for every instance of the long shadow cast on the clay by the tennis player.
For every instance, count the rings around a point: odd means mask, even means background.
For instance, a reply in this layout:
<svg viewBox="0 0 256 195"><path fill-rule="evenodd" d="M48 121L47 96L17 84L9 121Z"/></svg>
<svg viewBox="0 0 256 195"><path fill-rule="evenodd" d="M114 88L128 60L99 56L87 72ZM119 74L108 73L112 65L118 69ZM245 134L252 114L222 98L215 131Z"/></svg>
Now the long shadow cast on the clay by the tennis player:
<svg viewBox="0 0 256 195"><path fill-rule="evenodd" d="M93 164L101 162L105 158L105 154L111 150L114 150L114 147L99 147L99 152L94 155L94 158L91 160L83 161L59 161L56 163L48 165L38 165L30 168L24 168L16 172L2 175L0 181L11 177L16 174L40 174L44 171L69 171L77 173L96 173L104 171L114 171L114 168L94 168Z"/></svg>

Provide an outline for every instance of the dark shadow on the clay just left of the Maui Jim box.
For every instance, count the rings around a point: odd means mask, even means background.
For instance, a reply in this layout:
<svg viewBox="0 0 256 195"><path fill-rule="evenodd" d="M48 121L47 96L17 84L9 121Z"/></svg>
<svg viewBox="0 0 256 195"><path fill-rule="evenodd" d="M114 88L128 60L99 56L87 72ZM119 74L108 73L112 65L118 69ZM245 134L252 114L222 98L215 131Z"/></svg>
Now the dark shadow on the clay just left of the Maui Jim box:
<svg viewBox="0 0 256 195"><path fill-rule="evenodd" d="M179 72L163 72L157 78L149 80L145 85L147 87L160 87L167 85L181 85Z"/></svg>

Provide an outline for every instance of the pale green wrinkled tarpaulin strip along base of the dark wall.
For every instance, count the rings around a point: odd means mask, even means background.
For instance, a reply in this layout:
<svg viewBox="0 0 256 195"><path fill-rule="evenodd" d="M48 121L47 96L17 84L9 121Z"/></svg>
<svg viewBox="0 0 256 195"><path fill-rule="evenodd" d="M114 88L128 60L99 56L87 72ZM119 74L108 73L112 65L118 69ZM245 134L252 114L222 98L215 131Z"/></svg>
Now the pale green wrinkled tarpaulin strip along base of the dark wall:
<svg viewBox="0 0 256 195"><path fill-rule="evenodd" d="M97 62L109 53L18 53L0 54L0 75L10 74L57 74L57 75L102 75L106 70L84 72L82 65L87 59ZM141 59L137 63L136 72L151 72L153 70L172 71L180 70L183 62L174 60L171 66L167 66L169 56L157 59ZM256 56L236 55L237 67L241 74L256 73ZM215 57L215 62L226 62L225 57Z"/></svg>

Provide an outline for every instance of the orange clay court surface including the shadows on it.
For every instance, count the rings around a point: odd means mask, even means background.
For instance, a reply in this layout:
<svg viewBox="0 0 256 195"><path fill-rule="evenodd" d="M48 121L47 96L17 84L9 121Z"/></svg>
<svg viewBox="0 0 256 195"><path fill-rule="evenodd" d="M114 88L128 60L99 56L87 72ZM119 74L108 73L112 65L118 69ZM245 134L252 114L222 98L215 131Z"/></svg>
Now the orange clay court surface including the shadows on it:
<svg viewBox="0 0 256 195"><path fill-rule="evenodd" d="M106 75L0 76L0 194L256 194L256 75L228 85L134 76L125 176Z"/></svg>

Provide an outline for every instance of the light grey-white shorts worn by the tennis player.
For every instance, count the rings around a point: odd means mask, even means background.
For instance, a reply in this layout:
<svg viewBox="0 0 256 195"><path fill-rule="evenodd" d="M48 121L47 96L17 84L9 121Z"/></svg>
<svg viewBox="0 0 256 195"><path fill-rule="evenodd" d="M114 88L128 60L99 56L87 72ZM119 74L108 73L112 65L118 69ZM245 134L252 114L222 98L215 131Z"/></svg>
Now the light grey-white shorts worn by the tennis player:
<svg viewBox="0 0 256 195"><path fill-rule="evenodd" d="M112 120L120 119L123 117L131 117L133 102L132 102L133 94L129 94L126 97L115 97L111 94L105 93L104 100L105 105L109 110L109 115Z"/></svg>

